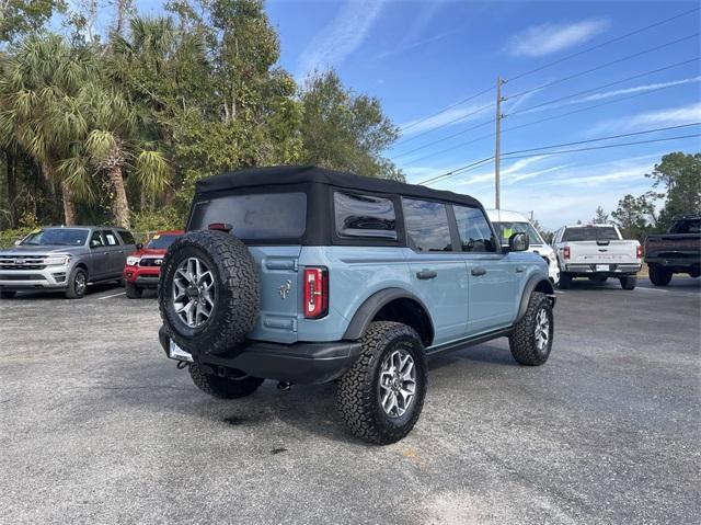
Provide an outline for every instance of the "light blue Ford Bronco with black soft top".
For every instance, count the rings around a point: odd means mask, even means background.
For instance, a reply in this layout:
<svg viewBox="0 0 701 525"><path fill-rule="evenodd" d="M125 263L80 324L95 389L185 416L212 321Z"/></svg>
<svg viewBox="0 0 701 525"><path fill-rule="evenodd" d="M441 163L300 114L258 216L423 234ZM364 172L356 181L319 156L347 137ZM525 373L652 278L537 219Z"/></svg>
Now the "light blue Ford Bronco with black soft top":
<svg viewBox="0 0 701 525"><path fill-rule="evenodd" d="M507 336L542 365L555 296L515 233L495 241L472 197L315 167L197 183L161 270L160 340L225 399L265 379L337 383L349 431L394 443L414 426L426 359Z"/></svg>

